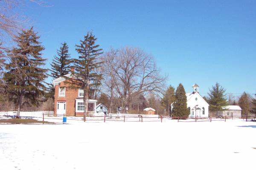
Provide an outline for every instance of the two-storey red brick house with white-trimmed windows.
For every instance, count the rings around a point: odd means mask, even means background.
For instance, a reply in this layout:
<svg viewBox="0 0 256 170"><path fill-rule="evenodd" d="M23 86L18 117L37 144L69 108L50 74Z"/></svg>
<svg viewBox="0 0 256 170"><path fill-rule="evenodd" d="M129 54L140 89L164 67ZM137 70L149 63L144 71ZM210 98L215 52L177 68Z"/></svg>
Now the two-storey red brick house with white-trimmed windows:
<svg viewBox="0 0 256 170"><path fill-rule="evenodd" d="M71 73L65 75L71 77ZM81 89L69 88L64 77L53 80L55 87L54 94L54 114L65 114L67 116L83 116L84 115L84 91ZM97 100L89 99L87 113L96 112Z"/></svg>

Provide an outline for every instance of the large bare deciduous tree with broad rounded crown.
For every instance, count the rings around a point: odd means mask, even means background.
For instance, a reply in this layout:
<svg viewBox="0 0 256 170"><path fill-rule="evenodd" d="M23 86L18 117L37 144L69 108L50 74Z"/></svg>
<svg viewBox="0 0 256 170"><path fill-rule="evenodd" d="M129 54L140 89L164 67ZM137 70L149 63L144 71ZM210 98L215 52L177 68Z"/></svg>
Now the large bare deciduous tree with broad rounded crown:
<svg viewBox="0 0 256 170"><path fill-rule="evenodd" d="M140 95L163 93L166 77L160 75L160 69L151 55L139 48L111 49L105 54L105 77L107 86L122 100L122 108L138 102Z"/></svg>

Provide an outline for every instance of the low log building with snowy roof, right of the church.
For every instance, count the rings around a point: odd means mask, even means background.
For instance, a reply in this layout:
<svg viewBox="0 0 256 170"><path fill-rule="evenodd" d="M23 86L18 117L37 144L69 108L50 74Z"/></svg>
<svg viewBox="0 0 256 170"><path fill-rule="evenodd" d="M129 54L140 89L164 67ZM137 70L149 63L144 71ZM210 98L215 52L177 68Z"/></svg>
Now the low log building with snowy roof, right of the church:
<svg viewBox="0 0 256 170"><path fill-rule="evenodd" d="M228 105L225 107L222 107L225 109L224 111L218 111L218 116L227 116L227 117L241 117L241 111L242 109L239 106L236 105Z"/></svg>

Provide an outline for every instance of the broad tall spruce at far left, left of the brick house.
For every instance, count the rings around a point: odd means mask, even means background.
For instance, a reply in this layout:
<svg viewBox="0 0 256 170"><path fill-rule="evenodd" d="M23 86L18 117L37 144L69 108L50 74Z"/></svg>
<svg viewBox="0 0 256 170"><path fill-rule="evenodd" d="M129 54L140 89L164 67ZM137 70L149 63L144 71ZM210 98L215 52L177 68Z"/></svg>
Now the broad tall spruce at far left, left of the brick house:
<svg viewBox="0 0 256 170"><path fill-rule="evenodd" d="M38 41L40 37L33 30L22 30L15 37L17 47L7 51L10 62L6 64L4 74L9 100L17 104L17 117L23 104L38 105L44 95L44 80L47 69L42 68L46 59L42 57L44 46Z"/></svg>

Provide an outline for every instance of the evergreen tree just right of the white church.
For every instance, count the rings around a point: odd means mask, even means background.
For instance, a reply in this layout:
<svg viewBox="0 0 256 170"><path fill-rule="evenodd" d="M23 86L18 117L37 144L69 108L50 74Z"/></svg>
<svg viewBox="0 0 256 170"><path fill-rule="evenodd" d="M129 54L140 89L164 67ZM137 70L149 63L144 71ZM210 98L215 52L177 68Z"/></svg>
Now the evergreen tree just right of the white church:
<svg viewBox="0 0 256 170"><path fill-rule="evenodd" d="M217 116L217 112L223 111L223 107L228 105L227 99L225 98L226 90L216 82L215 86L212 86L212 90L209 91L209 99L207 101L210 105L209 109L215 111Z"/></svg>

